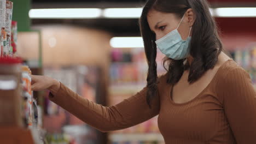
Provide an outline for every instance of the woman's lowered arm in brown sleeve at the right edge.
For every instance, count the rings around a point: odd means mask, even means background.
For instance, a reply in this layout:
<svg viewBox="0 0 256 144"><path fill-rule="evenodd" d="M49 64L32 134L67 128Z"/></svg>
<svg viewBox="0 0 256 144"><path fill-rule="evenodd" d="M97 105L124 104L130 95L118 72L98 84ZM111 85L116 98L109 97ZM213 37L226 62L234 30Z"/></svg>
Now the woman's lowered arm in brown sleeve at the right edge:
<svg viewBox="0 0 256 144"><path fill-rule="evenodd" d="M256 143L256 92L249 74L235 68L222 81L224 111L237 144Z"/></svg>

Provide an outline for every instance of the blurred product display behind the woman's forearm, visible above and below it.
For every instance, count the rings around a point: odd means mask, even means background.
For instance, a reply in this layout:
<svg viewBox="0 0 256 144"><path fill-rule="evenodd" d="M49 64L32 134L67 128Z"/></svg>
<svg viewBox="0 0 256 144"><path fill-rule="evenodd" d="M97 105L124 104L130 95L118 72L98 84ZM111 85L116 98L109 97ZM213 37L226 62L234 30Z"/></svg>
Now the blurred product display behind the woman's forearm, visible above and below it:
<svg viewBox="0 0 256 144"><path fill-rule="evenodd" d="M53 77L81 97L96 103L101 98L97 89L100 87L99 74L100 69L96 66L77 65L44 68L44 75ZM66 137L65 139L69 142L77 144L98 143L97 138L99 136L96 129L49 99L46 98L44 101L44 128L48 131L46 137L49 143L59 144L61 141L64 142L63 137Z"/></svg>

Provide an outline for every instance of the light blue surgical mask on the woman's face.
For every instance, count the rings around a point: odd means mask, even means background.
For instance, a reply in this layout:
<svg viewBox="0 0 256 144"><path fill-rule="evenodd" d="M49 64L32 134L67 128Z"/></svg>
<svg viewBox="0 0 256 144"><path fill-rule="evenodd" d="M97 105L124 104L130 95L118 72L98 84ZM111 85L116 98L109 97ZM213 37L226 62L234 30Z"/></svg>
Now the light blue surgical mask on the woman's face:
<svg viewBox="0 0 256 144"><path fill-rule="evenodd" d="M183 21L183 18L184 15L181 22ZM181 22L179 22L179 25L181 25ZM155 41L158 49L160 49L160 51L164 53L164 55L174 60L187 58L190 52L191 37L189 35L191 32L191 28L187 40L183 40L181 34L179 34L178 32L178 27L170 33L166 34L161 39Z"/></svg>

